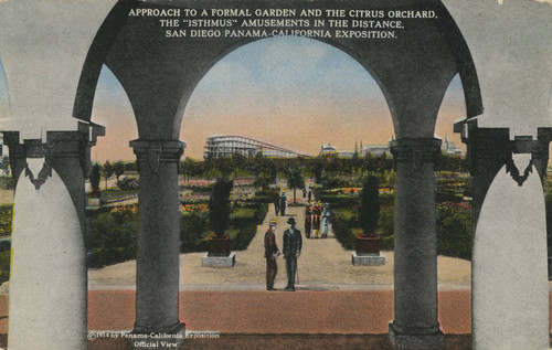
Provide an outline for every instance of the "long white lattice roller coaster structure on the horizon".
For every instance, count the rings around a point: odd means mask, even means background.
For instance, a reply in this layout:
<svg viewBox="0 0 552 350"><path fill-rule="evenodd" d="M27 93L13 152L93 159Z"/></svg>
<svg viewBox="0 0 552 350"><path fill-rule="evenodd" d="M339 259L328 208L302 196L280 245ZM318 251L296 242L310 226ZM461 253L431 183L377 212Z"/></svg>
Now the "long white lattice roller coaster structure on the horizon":
<svg viewBox="0 0 552 350"><path fill-rule="evenodd" d="M262 153L265 157L294 158L304 153L285 149L279 146L255 140L237 135L212 135L206 140L204 157L229 157L240 153L244 157L254 157Z"/></svg>

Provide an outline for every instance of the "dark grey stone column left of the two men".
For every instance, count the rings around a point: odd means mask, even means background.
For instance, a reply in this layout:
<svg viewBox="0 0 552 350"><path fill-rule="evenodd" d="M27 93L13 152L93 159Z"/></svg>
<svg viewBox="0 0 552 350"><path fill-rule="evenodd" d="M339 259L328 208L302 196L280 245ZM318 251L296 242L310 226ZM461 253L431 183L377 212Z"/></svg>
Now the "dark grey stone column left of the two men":
<svg viewBox="0 0 552 350"><path fill-rule="evenodd" d="M178 170L185 144L130 142L140 173L140 233L136 266L137 333L183 331L179 319L180 209Z"/></svg>

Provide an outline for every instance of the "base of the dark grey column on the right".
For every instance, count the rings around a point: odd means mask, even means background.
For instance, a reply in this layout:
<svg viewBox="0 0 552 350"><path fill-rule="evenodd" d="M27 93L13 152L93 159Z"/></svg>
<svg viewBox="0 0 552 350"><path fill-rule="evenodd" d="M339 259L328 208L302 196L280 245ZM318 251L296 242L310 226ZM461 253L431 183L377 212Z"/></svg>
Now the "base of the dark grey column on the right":
<svg viewBox="0 0 552 350"><path fill-rule="evenodd" d="M402 327L389 324L389 337L396 349L445 349L445 335L440 329L406 331Z"/></svg>

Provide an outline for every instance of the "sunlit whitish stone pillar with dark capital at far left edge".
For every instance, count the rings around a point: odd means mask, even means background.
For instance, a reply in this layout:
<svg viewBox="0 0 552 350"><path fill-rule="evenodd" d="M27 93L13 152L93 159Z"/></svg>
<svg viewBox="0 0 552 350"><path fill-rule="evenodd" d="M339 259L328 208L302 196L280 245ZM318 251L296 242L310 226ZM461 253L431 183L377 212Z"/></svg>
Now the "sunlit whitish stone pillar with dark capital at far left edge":
<svg viewBox="0 0 552 350"><path fill-rule="evenodd" d="M86 349L84 180L96 135L82 127L45 142L3 132L17 181L10 349Z"/></svg>

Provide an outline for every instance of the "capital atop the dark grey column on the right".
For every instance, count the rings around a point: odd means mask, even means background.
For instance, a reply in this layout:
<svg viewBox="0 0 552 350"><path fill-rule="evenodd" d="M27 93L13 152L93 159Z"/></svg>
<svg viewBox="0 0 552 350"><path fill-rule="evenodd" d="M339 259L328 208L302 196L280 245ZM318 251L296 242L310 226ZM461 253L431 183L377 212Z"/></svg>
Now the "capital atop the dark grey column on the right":
<svg viewBox="0 0 552 350"><path fill-rule="evenodd" d="M442 141L436 138L402 138L391 141L391 152L395 162L410 162L416 167L435 163Z"/></svg>

